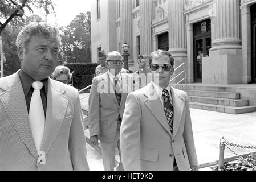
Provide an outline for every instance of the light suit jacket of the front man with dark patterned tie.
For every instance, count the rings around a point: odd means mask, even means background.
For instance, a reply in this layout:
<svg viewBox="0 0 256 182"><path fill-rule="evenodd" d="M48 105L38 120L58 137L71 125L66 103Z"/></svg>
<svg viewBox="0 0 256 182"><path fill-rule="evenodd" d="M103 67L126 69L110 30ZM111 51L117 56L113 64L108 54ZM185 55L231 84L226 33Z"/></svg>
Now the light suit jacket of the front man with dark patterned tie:
<svg viewBox="0 0 256 182"><path fill-rule="evenodd" d="M125 170L172 170L173 156L181 171L197 165L186 93L170 90L174 107L173 135L152 83L128 94L120 131Z"/></svg>

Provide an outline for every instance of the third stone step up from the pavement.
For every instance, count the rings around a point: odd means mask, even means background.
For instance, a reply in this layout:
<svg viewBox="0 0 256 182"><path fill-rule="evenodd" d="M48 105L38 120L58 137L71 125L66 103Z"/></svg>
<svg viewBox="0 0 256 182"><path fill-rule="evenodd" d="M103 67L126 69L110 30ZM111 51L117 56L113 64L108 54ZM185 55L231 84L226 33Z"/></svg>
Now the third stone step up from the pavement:
<svg viewBox="0 0 256 182"><path fill-rule="evenodd" d="M189 96L217 97L239 99L240 94L236 92L215 92L205 90L184 90Z"/></svg>

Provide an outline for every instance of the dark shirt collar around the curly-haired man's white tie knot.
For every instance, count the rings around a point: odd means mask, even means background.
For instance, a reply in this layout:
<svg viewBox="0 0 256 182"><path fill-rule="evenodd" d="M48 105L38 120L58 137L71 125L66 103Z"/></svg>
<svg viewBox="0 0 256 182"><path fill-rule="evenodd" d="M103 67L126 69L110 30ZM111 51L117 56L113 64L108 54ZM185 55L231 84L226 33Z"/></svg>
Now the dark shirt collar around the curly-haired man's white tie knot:
<svg viewBox="0 0 256 182"><path fill-rule="evenodd" d="M19 78L21 79L21 84L22 84L24 94L25 96L27 96L27 94L29 94L31 85L33 82L35 82L35 80L31 76L27 75L27 73L25 73L22 69L19 71ZM48 78L41 80L40 82L44 84L44 91L47 94Z"/></svg>

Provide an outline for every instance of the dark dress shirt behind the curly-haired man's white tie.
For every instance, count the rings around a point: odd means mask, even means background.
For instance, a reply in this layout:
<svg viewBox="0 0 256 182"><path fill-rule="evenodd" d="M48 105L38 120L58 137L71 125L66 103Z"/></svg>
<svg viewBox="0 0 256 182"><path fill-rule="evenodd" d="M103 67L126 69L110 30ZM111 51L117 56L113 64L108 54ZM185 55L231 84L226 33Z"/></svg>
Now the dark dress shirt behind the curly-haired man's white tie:
<svg viewBox="0 0 256 182"><path fill-rule="evenodd" d="M27 75L27 73L25 73L22 69L19 71L19 78L21 79L21 84L27 105L27 113L29 114L30 101L32 93L34 92L34 88L32 88L32 83L35 82L35 80ZM42 98L44 115L46 115L48 78L40 80L40 82L44 84L43 88L40 90L40 96Z"/></svg>

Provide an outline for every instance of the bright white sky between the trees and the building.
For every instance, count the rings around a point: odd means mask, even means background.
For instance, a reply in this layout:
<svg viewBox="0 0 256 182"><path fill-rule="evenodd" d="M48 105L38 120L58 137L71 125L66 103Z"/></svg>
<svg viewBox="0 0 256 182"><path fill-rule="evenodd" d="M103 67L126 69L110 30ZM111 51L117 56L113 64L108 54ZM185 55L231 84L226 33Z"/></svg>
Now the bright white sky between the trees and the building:
<svg viewBox="0 0 256 182"><path fill-rule="evenodd" d="M48 23L57 23L58 26L67 26L80 12L91 11L92 0L52 0L56 4L56 18L47 16Z"/></svg>

